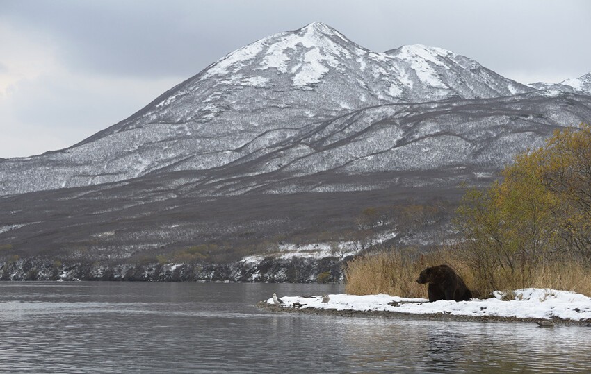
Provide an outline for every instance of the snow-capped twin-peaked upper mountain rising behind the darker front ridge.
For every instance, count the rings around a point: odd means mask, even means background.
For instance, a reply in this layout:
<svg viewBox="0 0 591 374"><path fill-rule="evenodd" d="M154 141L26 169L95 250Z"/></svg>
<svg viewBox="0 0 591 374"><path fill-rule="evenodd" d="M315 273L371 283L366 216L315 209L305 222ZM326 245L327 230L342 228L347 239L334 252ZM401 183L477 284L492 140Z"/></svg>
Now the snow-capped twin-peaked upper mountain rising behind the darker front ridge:
<svg viewBox="0 0 591 374"><path fill-rule="evenodd" d="M451 51L376 53L314 22L229 53L80 144L0 162L0 195L223 167L374 105L532 91Z"/></svg>

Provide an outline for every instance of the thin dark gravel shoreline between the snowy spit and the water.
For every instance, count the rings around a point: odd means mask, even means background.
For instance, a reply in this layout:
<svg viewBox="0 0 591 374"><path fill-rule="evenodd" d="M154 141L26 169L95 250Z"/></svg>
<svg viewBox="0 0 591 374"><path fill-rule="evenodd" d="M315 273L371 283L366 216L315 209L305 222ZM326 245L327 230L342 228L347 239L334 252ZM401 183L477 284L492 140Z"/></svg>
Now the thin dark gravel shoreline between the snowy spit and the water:
<svg viewBox="0 0 591 374"><path fill-rule="evenodd" d="M390 312L387 310L337 310L337 309L321 309L316 307L280 307L279 305L269 304L266 301L259 301L257 308L266 310L267 312L277 313L295 313L295 314L309 314L315 316L339 316L339 317L378 317L378 318L412 318L425 319L429 321L466 321L466 322L493 322L493 323L536 323L537 321L550 321L544 318L517 318L517 317L500 317L500 316L461 316L447 313L406 313L406 312ZM553 317L551 321L554 325L559 326L580 326L591 327L591 318L586 320L573 320Z"/></svg>

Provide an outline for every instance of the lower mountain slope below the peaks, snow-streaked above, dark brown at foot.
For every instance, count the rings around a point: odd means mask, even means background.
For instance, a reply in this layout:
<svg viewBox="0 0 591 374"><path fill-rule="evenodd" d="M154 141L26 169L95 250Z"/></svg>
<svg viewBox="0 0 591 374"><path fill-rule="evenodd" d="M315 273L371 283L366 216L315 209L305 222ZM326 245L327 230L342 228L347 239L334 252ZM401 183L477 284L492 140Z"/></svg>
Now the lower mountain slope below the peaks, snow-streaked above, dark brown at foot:
<svg viewBox="0 0 591 374"><path fill-rule="evenodd" d="M171 166L121 182L5 196L0 243L21 257L93 262L211 244L218 249L208 261L228 262L282 241L368 242L403 224L391 218L376 232L360 230L357 218L368 207L432 198L453 205L460 182L485 185L513 153L541 145L562 124L590 119L591 96L576 94L377 105L222 167ZM432 239L415 235L405 244Z"/></svg>

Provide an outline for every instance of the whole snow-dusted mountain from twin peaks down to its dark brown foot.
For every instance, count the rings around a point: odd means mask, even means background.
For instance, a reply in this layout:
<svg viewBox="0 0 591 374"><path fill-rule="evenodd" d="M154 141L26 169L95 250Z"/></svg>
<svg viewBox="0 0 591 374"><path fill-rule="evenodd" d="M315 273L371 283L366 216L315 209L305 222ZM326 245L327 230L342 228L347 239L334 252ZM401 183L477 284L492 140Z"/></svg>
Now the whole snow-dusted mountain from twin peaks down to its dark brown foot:
<svg viewBox="0 0 591 374"><path fill-rule="evenodd" d="M483 185L556 128L590 122L588 83L526 87L451 51L376 53L316 22L229 53L70 148L0 160L0 256L206 266L440 241L428 232L446 219L403 230L401 207L446 201L448 214L460 182Z"/></svg>

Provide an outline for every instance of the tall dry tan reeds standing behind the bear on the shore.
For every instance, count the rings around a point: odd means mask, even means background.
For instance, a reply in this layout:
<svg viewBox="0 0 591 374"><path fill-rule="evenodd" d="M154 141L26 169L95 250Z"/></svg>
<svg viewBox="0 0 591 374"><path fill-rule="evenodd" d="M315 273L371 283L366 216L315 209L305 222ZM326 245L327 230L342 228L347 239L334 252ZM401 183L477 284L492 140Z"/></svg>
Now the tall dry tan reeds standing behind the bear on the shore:
<svg viewBox="0 0 591 374"><path fill-rule="evenodd" d="M353 295L389 294L409 298L426 298L427 287L416 283L427 266L448 264L480 298L495 289L509 291L525 287L560 289L591 296L591 269L575 259L560 259L524 271L489 269L482 272L462 260L452 250L437 250L418 255L396 249L382 250L348 262L345 269L346 292Z"/></svg>

